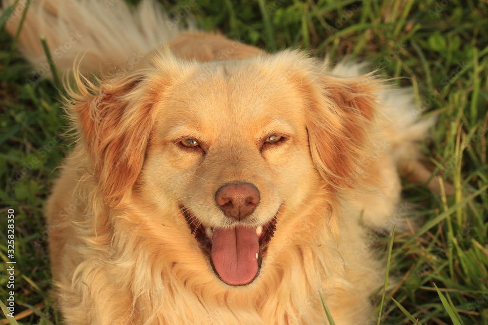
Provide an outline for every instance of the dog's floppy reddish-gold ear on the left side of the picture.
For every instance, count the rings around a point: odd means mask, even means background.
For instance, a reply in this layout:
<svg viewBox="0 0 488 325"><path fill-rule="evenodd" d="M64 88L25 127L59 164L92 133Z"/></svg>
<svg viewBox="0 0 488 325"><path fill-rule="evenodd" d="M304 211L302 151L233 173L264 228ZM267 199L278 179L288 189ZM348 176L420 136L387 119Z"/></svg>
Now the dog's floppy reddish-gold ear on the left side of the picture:
<svg viewBox="0 0 488 325"><path fill-rule="evenodd" d="M155 119L155 94L135 74L96 85L77 80L68 110L74 115L82 146L104 199L119 202L135 184Z"/></svg>

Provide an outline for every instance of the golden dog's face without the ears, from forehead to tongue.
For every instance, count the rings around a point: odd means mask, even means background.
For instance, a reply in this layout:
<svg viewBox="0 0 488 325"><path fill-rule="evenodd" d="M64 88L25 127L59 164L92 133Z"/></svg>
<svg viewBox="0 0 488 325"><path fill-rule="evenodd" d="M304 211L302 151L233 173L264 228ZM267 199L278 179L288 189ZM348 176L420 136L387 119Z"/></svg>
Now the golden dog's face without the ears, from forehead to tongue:
<svg viewBox="0 0 488 325"><path fill-rule="evenodd" d="M153 199L178 204L234 286L257 276L280 207L295 209L318 182L303 98L284 77L255 68L202 65L170 86L142 169Z"/></svg>

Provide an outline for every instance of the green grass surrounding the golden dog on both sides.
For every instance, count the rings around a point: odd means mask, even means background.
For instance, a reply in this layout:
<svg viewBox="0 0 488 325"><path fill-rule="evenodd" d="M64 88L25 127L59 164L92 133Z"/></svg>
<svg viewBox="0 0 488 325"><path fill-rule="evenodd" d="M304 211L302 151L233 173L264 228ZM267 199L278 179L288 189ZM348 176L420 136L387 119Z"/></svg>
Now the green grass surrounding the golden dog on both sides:
<svg viewBox="0 0 488 325"><path fill-rule="evenodd" d="M163 0L169 13L185 2ZM269 51L309 50L332 61L348 55L413 86L419 110L438 115L424 153L455 193L405 185L404 198L425 218L415 236L393 241L390 285L373 297L380 324L488 324L488 6L481 1L197 1L198 26ZM3 23L3 21L1 22ZM38 81L0 30L0 259L7 258L7 209L14 209L16 315L19 324L60 324L49 297L44 202L68 141L51 81ZM26 82L34 80L35 82ZM387 250L375 237L372 249ZM0 272L0 300L8 296ZM434 287L434 283L437 287ZM437 289L438 288L438 289ZM381 308L380 308L381 306ZM381 309L381 313L380 313ZM370 323L377 324L377 316ZM415 320L415 321L414 321ZM0 324L1 321L0 321Z"/></svg>

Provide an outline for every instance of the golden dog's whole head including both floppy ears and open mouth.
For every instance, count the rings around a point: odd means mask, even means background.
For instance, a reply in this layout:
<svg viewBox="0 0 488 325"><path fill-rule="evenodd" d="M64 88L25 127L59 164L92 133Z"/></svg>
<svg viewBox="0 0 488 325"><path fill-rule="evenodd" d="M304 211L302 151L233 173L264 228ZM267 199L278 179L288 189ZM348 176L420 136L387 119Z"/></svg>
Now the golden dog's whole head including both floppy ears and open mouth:
<svg viewBox="0 0 488 325"><path fill-rule="evenodd" d="M163 211L153 227L184 223L224 283L249 284L321 189L357 182L377 83L328 76L296 51L150 61L75 105L99 190Z"/></svg>

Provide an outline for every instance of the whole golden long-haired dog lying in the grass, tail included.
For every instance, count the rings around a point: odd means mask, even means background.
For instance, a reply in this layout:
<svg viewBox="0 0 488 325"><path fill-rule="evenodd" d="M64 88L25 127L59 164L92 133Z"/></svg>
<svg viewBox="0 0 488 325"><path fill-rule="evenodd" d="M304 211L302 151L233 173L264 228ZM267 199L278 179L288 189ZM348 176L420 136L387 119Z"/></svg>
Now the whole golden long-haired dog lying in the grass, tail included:
<svg viewBox="0 0 488 325"><path fill-rule="evenodd" d="M411 91L178 30L147 0L33 1L34 67L41 34L75 71L46 210L65 324L324 324L321 295L336 324L366 323L386 264L367 235L407 229L401 172L430 177Z"/></svg>

